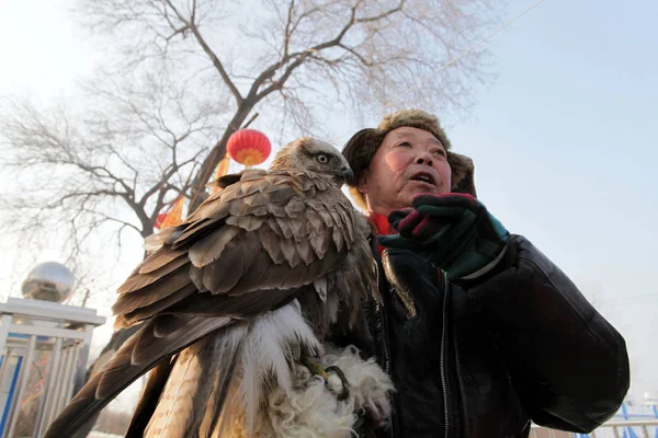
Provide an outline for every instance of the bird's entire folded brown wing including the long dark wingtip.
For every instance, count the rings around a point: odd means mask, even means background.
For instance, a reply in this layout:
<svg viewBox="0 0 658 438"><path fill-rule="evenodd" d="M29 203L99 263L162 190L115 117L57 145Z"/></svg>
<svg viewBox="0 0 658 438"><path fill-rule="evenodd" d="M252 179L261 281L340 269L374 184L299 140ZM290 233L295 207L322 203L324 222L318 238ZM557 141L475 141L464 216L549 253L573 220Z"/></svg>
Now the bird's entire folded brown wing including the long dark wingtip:
<svg viewBox="0 0 658 438"><path fill-rule="evenodd" d="M201 337L284 306L295 288L337 269L354 242L351 211L340 189L320 177L245 172L181 226L156 234L113 307L118 326L148 322L76 395L47 437L67 436Z"/></svg>

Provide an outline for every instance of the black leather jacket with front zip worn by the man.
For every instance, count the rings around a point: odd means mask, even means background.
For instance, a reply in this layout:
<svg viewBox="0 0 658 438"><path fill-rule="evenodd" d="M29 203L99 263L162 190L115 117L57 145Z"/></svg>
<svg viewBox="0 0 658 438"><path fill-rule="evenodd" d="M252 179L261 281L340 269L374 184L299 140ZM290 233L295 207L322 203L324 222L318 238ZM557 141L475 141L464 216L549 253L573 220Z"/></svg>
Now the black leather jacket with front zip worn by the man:
<svg viewBox="0 0 658 438"><path fill-rule="evenodd" d="M524 238L512 235L492 272L458 285L406 251L385 251L379 267L373 338L351 339L396 384L393 429L377 436L527 437L531 419L588 433L621 405L623 337Z"/></svg>

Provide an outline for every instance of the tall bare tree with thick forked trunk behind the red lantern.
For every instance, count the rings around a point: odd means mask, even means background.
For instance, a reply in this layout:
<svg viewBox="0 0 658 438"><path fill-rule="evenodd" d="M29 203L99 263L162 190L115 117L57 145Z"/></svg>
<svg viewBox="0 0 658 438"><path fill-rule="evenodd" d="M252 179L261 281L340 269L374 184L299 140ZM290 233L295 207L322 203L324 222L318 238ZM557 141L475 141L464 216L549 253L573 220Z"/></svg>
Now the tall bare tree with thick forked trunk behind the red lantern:
<svg viewBox="0 0 658 438"><path fill-rule="evenodd" d="M83 0L92 28L121 45L122 68L154 58L186 61L230 92L232 116L193 182L194 208L226 142L257 106L314 127L311 102L356 112L387 103L445 110L469 102L483 53L439 67L486 27L491 1ZM127 36L127 37L126 37ZM434 76L423 87L421 79ZM326 104L327 105L327 104ZM320 105L321 106L321 105ZM201 195L201 196L200 196Z"/></svg>

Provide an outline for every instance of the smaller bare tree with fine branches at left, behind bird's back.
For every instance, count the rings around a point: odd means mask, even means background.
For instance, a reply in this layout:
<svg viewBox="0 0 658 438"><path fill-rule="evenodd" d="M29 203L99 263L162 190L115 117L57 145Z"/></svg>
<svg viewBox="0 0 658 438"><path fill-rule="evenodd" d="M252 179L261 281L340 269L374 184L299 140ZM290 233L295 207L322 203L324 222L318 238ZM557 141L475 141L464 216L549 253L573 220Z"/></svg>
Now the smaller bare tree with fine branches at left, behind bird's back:
<svg viewBox="0 0 658 438"><path fill-rule="evenodd" d="M31 234L66 228L69 260L103 228L117 232L118 244L124 230L151 234L158 212L189 195L222 115L162 74L90 83L73 110L3 103L3 170L26 183L8 199L9 222Z"/></svg>

